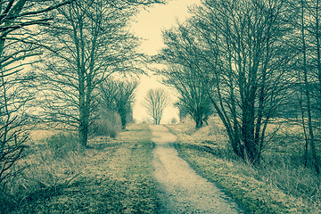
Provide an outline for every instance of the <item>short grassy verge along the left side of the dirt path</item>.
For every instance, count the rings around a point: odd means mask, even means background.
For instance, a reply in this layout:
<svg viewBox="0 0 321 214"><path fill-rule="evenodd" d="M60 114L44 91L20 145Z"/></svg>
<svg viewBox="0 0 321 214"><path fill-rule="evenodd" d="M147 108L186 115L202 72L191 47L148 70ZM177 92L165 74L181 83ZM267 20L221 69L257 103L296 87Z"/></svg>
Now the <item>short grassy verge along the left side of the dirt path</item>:
<svg viewBox="0 0 321 214"><path fill-rule="evenodd" d="M25 194L12 213L155 213L156 183L148 126L133 125L116 139L97 137L90 145L92 148L85 152L55 158L56 170L51 176L38 175L35 180L42 186ZM47 169L48 173L53 161L50 156L38 162L34 170ZM29 159L40 161L36 154ZM30 179L20 181L20 185L29 183Z"/></svg>

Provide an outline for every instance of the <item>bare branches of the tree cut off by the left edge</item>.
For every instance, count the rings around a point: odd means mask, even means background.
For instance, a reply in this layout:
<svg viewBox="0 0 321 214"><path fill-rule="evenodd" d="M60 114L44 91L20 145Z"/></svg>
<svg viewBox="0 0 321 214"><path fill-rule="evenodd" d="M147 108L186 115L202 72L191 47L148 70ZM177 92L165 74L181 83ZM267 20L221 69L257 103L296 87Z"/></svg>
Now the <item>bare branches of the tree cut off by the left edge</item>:
<svg viewBox="0 0 321 214"><path fill-rule="evenodd" d="M33 98L35 76L26 72L30 57L39 54L35 25L49 25L46 13L71 1L0 1L0 184L1 188L20 169L12 166L22 158L28 140L26 110Z"/></svg>

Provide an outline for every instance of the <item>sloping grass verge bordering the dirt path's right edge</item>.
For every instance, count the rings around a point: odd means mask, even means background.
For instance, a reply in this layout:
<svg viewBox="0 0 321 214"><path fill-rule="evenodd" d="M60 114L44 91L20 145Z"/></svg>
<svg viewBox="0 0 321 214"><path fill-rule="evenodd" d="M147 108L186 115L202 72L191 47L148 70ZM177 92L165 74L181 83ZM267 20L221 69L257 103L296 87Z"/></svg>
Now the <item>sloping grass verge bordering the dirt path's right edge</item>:
<svg viewBox="0 0 321 214"><path fill-rule="evenodd" d="M227 144L219 128L213 131L210 127L210 134L209 128L191 132L186 124L169 128L178 136L176 148L180 156L251 213L320 213L302 198L284 193L265 180L258 169L231 159L232 154L226 149Z"/></svg>

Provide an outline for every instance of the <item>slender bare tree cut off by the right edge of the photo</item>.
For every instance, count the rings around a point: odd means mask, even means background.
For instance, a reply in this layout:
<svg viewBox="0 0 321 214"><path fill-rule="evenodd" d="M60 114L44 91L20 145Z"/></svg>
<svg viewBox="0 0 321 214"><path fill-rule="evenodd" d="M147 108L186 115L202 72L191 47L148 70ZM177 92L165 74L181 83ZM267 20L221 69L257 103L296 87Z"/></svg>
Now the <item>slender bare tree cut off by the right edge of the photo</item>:
<svg viewBox="0 0 321 214"><path fill-rule="evenodd" d="M296 34L296 47L300 51L294 64L296 89L299 91L300 111L305 136L305 166L308 163L320 173L317 157L317 141L320 129L321 100L321 4L318 0L298 0L292 2L292 10L297 20L293 22Z"/></svg>

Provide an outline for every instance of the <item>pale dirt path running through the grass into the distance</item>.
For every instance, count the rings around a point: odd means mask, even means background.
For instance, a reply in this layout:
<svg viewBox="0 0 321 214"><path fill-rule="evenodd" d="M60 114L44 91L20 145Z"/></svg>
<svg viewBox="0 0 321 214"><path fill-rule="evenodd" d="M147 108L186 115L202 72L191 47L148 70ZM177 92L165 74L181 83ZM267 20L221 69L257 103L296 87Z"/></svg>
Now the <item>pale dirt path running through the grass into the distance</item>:
<svg viewBox="0 0 321 214"><path fill-rule="evenodd" d="M243 213L218 187L178 157L176 136L163 126L151 126L155 177L161 184L160 213Z"/></svg>

